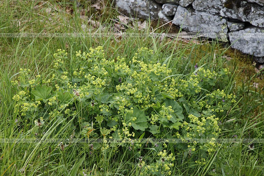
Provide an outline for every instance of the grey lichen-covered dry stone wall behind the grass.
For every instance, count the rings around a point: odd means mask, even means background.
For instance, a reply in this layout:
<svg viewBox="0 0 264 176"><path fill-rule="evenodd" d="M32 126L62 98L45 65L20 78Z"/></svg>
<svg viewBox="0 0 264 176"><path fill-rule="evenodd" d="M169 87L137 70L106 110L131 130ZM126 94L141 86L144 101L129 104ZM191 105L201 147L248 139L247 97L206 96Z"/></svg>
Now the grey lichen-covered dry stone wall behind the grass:
<svg viewBox="0 0 264 176"><path fill-rule="evenodd" d="M128 16L173 20L187 32L226 34L218 40L264 63L264 0L116 0L116 7Z"/></svg>

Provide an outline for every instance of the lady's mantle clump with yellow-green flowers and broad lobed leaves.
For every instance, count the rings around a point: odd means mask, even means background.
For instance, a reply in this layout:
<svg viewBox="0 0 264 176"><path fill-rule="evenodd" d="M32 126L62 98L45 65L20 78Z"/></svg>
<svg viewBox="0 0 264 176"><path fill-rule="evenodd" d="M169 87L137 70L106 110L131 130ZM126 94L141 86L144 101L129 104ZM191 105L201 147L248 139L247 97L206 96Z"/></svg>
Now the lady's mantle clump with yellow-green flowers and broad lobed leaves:
<svg viewBox="0 0 264 176"><path fill-rule="evenodd" d="M69 130L75 130L76 137L103 139L102 143L79 144L79 149L88 150L91 157L98 156L99 165L122 148L135 157L140 174L171 174L175 158L182 152L202 167L204 158L219 148L218 143L173 144L151 139L218 138L219 117L235 106L235 96L206 88L227 80L229 70L216 73L196 65L192 73L180 75L165 64L144 63L152 54L152 50L141 48L128 61L105 58L101 46L90 48L88 53L77 51L73 58L58 50L49 75L33 75L21 69L19 84L12 81L19 90L13 97L18 121L26 120L27 125L34 125L38 118L45 125L52 119L62 121L62 125L70 122ZM65 63L69 60L68 67ZM56 132L61 132L57 138L65 137L60 126ZM137 140L140 136L150 142ZM63 146L67 150L67 144ZM153 158L144 158L146 148L155 151Z"/></svg>

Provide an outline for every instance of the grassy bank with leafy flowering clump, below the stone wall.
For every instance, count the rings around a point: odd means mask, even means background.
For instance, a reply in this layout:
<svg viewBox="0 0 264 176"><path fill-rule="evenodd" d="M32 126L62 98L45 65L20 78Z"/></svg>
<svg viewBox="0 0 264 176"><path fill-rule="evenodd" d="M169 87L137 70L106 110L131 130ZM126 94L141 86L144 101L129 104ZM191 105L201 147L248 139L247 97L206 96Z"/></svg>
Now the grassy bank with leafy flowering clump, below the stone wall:
<svg viewBox="0 0 264 176"><path fill-rule="evenodd" d="M119 16L111 4L6 1L0 29L178 32ZM1 142L1 175L263 175L263 143L214 142L263 138L263 76L250 56L217 41L176 37L0 43L0 138L65 139Z"/></svg>

